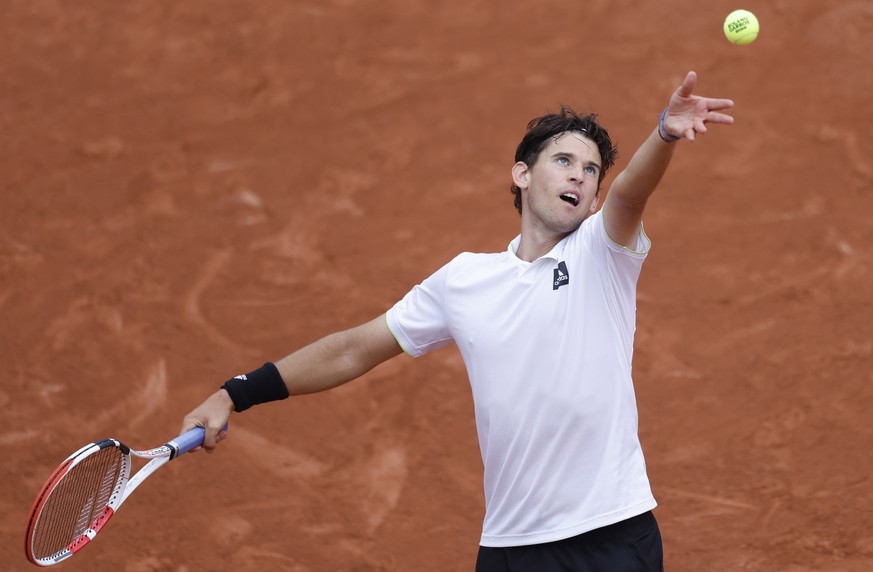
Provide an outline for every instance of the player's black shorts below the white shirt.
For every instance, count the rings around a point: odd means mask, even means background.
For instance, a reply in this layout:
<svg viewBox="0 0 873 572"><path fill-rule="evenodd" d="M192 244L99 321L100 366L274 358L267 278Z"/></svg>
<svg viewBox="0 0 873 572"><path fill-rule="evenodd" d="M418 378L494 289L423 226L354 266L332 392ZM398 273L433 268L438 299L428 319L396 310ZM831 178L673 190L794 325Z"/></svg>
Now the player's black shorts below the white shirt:
<svg viewBox="0 0 873 572"><path fill-rule="evenodd" d="M651 511L579 536L506 548L479 547L476 572L662 572L661 531Z"/></svg>

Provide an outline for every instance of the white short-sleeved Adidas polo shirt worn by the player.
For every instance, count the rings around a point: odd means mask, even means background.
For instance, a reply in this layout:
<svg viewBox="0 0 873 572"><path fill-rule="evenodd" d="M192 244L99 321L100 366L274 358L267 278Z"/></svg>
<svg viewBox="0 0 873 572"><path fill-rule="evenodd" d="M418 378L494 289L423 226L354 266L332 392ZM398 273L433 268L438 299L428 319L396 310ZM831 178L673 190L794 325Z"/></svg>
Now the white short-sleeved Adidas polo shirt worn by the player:
<svg viewBox="0 0 873 572"><path fill-rule="evenodd" d="M463 253L387 313L414 356L455 342L485 466L482 546L576 536L655 507L631 380L636 284L651 243L598 212L545 256Z"/></svg>

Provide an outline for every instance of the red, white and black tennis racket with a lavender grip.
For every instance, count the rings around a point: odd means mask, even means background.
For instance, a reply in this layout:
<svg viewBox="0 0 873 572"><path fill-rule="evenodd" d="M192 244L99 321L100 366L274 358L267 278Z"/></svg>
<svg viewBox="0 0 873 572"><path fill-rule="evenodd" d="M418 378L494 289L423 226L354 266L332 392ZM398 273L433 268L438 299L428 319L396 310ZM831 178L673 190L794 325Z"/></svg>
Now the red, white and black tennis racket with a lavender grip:
<svg viewBox="0 0 873 572"><path fill-rule="evenodd" d="M51 566L81 550L146 478L203 443L204 434L202 427L195 427L148 451L103 439L67 457L33 503L24 537L27 559ZM150 459L132 478L131 455Z"/></svg>

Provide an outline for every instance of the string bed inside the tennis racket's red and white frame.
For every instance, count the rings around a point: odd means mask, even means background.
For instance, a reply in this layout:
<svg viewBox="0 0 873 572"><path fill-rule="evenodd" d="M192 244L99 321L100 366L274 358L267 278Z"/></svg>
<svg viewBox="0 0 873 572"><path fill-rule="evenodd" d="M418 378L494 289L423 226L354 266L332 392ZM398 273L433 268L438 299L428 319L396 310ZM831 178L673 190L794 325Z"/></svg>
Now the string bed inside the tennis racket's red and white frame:
<svg viewBox="0 0 873 572"><path fill-rule="evenodd" d="M46 499L33 532L36 558L51 556L84 534L112 500L123 466L121 450L105 447L61 478Z"/></svg>

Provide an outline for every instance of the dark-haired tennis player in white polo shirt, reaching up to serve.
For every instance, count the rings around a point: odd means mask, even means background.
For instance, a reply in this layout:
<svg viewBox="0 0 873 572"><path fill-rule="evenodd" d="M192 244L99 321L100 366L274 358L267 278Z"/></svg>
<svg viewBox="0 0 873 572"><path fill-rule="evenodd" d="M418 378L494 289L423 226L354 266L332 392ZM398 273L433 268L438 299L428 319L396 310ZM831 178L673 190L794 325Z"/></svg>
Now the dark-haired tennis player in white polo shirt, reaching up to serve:
<svg viewBox="0 0 873 572"><path fill-rule="evenodd" d="M324 391L401 352L455 343L473 391L485 519L476 570L659 571L656 503L631 379L642 216L680 139L731 124L688 73L605 193L616 157L596 115L530 122L512 167L521 232L458 255L386 314L228 380L189 413L211 451L232 411Z"/></svg>

